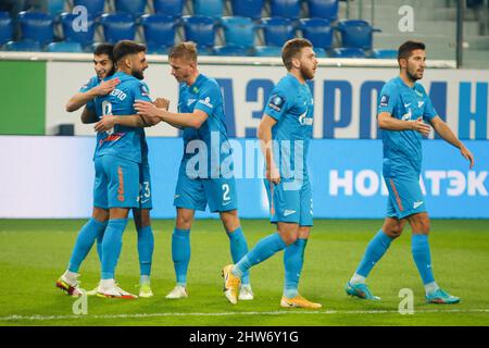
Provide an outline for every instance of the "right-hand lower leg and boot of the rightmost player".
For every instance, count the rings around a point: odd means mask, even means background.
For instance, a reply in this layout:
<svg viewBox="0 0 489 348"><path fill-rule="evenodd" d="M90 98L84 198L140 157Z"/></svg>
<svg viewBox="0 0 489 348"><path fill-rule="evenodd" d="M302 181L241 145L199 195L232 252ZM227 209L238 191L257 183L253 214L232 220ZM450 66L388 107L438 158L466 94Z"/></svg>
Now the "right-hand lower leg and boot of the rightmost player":
<svg viewBox="0 0 489 348"><path fill-rule="evenodd" d="M428 303L452 304L460 302L460 298L440 289L435 282L429 250L429 216L427 212L419 212L406 217L413 231L411 250L417 271L423 279Z"/></svg>

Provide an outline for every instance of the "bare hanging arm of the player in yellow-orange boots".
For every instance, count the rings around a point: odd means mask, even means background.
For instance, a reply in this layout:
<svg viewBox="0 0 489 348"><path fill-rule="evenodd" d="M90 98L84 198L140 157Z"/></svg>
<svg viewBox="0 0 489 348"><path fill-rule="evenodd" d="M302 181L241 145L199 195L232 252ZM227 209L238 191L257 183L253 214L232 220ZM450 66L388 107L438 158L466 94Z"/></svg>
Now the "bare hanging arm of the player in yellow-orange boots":
<svg viewBox="0 0 489 348"><path fill-rule="evenodd" d="M265 177L274 184L280 183L280 172L274 161L272 128L277 123L277 120L267 115L263 115L262 121L258 127L258 137L260 139L260 148L265 159L266 174Z"/></svg>

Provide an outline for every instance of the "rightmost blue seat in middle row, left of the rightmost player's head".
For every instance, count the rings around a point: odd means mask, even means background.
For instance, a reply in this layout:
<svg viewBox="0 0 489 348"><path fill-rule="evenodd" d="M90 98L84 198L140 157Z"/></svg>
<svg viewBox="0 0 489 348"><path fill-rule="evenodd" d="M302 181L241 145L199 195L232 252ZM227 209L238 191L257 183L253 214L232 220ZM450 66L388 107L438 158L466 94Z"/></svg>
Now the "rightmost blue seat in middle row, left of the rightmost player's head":
<svg viewBox="0 0 489 348"><path fill-rule="evenodd" d="M336 27L341 33L341 47L372 49L374 29L367 22L360 20L340 21Z"/></svg>

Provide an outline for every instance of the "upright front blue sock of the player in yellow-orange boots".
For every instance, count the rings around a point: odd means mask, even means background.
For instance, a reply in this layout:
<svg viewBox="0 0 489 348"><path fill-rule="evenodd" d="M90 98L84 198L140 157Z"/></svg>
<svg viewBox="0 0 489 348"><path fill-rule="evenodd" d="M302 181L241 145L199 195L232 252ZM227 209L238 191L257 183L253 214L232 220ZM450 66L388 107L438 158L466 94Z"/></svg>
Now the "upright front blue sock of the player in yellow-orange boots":
<svg viewBox="0 0 489 348"><path fill-rule="evenodd" d="M299 277L301 276L302 265L304 264L304 249L308 239L297 239L284 251L285 284L284 296L287 298L296 297L299 291Z"/></svg>

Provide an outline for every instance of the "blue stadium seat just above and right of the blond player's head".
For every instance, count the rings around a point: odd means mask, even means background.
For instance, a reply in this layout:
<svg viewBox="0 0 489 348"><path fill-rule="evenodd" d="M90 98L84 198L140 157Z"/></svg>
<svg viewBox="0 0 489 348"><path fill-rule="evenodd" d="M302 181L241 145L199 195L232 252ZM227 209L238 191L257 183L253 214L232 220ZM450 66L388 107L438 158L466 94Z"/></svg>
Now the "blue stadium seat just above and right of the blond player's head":
<svg viewBox="0 0 489 348"><path fill-rule="evenodd" d="M198 48L214 46L215 24L214 20L203 15L188 15L183 17L185 39L193 41Z"/></svg>

